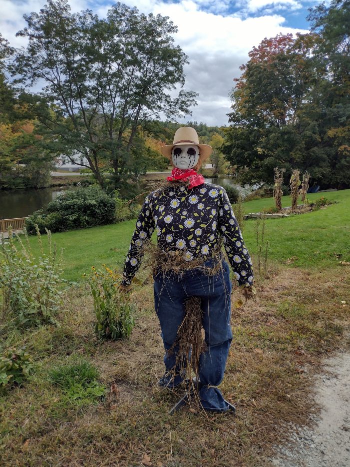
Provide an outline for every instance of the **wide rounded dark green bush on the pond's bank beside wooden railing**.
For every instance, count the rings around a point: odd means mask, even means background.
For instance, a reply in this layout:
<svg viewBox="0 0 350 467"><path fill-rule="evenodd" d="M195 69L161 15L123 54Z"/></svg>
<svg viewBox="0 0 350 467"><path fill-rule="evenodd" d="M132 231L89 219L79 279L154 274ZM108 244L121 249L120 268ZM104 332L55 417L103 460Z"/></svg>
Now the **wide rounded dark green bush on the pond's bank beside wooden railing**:
<svg viewBox="0 0 350 467"><path fill-rule="evenodd" d="M36 211L26 220L28 233L33 234L35 223L39 231L81 229L115 221L115 202L99 186L91 185L67 190L51 201L46 212Z"/></svg>

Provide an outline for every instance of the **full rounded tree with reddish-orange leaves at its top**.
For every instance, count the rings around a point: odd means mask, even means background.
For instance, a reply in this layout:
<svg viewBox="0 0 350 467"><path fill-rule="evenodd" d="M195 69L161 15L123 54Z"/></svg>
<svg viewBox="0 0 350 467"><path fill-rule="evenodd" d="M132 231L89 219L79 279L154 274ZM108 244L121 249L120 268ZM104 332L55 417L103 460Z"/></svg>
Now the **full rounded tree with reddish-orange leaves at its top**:
<svg viewBox="0 0 350 467"><path fill-rule="evenodd" d="M223 152L243 181L273 183L276 166L287 176L296 166L312 171L312 153L320 141L310 96L316 80L315 40L312 34L265 38L241 66Z"/></svg>

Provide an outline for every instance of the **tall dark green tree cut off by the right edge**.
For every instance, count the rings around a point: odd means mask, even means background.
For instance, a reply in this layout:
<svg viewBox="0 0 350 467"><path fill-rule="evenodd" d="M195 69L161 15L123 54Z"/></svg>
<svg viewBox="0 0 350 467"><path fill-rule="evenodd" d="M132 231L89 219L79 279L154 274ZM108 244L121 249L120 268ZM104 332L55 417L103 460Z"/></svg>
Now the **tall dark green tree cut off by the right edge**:
<svg viewBox="0 0 350 467"><path fill-rule="evenodd" d="M323 70L319 106L323 109L325 137L333 179L350 186L350 1L333 0L309 8L311 30L319 34L315 61Z"/></svg>

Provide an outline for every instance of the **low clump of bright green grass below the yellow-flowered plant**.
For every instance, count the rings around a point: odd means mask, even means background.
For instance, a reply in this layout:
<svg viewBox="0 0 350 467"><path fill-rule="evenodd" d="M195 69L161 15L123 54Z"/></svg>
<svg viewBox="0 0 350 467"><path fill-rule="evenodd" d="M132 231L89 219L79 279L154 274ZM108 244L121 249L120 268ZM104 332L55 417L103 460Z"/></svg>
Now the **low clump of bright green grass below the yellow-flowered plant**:
<svg viewBox="0 0 350 467"><path fill-rule="evenodd" d="M97 368L86 360L59 365L48 372L48 380L78 404L99 402L104 397L106 388L97 381L98 377Z"/></svg>

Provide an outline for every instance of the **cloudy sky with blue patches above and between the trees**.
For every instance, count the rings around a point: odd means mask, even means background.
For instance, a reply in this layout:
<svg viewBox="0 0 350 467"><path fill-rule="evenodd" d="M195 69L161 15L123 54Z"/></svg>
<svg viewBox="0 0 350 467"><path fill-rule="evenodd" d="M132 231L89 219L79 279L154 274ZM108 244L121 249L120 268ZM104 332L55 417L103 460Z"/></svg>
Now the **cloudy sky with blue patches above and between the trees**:
<svg viewBox="0 0 350 467"><path fill-rule="evenodd" d="M169 16L178 26L175 41L189 57L186 89L199 93L189 119L208 125L228 124L233 78L248 52L265 37L307 32L308 7L321 0L124 0L144 12ZM0 0L0 31L11 45L25 45L15 33L23 14L38 11L44 0ZM104 17L113 1L69 0L73 11L90 8Z"/></svg>

